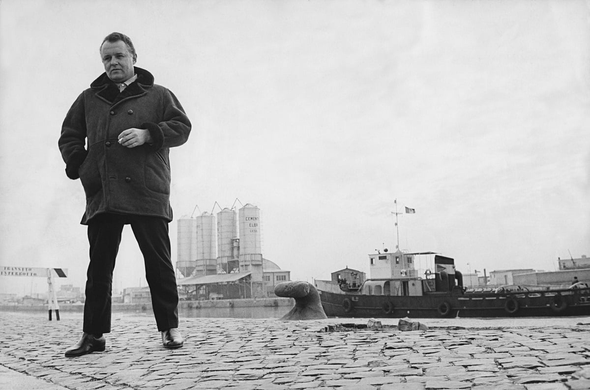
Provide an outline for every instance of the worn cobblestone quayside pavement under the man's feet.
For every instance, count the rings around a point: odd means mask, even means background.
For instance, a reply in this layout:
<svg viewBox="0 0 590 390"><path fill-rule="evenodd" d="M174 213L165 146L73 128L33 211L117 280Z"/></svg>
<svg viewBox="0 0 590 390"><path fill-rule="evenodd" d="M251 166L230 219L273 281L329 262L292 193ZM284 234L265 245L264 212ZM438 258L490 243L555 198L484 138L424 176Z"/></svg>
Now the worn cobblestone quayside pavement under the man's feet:
<svg viewBox="0 0 590 390"><path fill-rule="evenodd" d="M48 387L590 389L590 324L325 332L328 325L366 319L188 318L181 328L185 346L167 350L153 319L122 317L113 320L106 351L65 358L81 335L81 316L49 322L0 315L0 366Z"/></svg>

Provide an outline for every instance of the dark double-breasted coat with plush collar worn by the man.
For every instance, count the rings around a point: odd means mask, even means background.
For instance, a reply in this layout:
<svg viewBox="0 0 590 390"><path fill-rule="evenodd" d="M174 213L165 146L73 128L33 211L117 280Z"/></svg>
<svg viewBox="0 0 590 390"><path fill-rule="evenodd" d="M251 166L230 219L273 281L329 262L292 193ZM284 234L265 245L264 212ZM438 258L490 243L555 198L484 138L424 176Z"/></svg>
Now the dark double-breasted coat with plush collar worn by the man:
<svg viewBox="0 0 590 390"><path fill-rule="evenodd" d="M191 122L167 88L135 68L123 92L103 73L82 92L65 117L58 141L65 173L86 193L82 224L100 213L163 217L172 221L169 148L186 142ZM121 146L128 128L147 129L152 144ZM87 149L84 147L87 140Z"/></svg>

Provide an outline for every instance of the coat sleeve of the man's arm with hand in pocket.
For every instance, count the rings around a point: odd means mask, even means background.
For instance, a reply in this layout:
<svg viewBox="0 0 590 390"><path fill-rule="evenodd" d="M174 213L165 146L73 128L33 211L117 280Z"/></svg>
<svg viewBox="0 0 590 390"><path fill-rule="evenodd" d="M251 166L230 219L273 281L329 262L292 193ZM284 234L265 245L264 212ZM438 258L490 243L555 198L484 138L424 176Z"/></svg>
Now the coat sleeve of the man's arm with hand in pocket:
<svg viewBox="0 0 590 390"><path fill-rule="evenodd" d="M65 115L58 140L61 157L65 162L65 174L70 179L78 179L78 168L88 154L86 148L86 115L84 113L84 93L76 99Z"/></svg>

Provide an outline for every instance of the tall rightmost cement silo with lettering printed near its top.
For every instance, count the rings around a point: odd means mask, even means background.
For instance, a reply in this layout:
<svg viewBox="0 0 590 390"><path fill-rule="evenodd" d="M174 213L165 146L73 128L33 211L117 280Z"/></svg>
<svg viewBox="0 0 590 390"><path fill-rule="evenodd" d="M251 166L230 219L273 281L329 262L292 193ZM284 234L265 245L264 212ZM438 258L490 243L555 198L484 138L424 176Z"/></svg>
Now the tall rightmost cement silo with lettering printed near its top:
<svg viewBox="0 0 590 390"><path fill-rule="evenodd" d="M260 209L248 203L240 209L240 270L257 272L262 280L262 249L260 244ZM253 275L254 280L254 275Z"/></svg>

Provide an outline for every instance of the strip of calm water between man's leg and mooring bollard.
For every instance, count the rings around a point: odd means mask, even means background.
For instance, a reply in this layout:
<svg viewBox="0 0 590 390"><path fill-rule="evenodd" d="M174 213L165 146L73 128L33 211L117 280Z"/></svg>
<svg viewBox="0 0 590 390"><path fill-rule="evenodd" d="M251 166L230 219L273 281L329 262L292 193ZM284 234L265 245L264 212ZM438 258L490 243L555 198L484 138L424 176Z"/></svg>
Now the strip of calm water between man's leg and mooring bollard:
<svg viewBox="0 0 590 390"><path fill-rule="evenodd" d="M254 308L179 308L183 318L281 318L291 310L288 306L263 306Z"/></svg>

